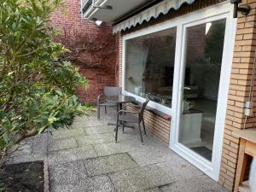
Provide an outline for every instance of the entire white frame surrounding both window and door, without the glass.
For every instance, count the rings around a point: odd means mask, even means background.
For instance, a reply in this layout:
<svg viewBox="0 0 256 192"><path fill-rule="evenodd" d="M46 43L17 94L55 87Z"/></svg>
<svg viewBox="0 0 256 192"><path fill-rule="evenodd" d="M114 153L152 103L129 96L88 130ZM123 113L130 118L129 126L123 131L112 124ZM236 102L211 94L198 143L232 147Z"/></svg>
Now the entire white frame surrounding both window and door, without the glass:
<svg viewBox="0 0 256 192"><path fill-rule="evenodd" d="M185 48L185 28L189 26L196 26L204 22L226 19L226 31L224 41L223 65L221 68L220 89L218 98L221 98L221 103L218 102L218 112L216 119L216 128L214 133L214 145L212 162L205 160L199 154L191 151L182 144L178 143L178 125L181 102L180 96L183 91L183 66L184 66L184 48ZM228 89L230 84L230 72L232 65L233 49L235 44L236 33L236 19L233 19L233 6L230 2L218 3L206 9L195 11L188 15L177 17L173 20L167 20L155 26L143 28L137 32L131 32L123 36L123 55L122 55L122 87L123 94L134 96L137 101L143 102L145 99L141 96L136 96L124 90L125 87L125 43L126 40L131 38L141 37L153 32L160 32L172 27L177 27L176 39L176 53L174 65L174 79L173 79L173 92L172 92L172 108L167 108L156 102L149 102L151 108L156 108L163 113L172 116L171 131L170 131L170 148L177 154L183 156L184 159L189 160L190 163L201 169L208 176L218 181L221 153L223 148L224 137L224 119L228 101Z"/></svg>

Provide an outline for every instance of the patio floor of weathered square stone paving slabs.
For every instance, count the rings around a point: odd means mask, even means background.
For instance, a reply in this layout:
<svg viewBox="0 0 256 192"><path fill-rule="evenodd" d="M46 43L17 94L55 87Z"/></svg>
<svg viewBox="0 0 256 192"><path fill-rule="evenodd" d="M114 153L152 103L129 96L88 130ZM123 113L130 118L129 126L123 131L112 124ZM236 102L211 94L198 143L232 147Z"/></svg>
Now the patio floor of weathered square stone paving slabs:
<svg viewBox="0 0 256 192"><path fill-rule="evenodd" d="M225 191L149 133L119 131L114 142L114 109L78 117L72 129L26 139L9 163L47 160L50 192L213 192Z"/></svg>

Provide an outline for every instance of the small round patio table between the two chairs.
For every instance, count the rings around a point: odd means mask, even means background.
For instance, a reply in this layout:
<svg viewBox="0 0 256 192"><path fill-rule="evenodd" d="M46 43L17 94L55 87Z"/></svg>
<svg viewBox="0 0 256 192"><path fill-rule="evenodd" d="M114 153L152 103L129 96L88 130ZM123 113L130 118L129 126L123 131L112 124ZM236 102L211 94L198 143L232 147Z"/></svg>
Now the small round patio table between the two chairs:
<svg viewBox="0 0 256 192"><path fill-rule="evenodd" d="M133 96L108 96L106 97L107 102L113 102L117 105L117 112L123 109L123 104L128 102L135 102L136 99ZM108 125L116 125L115 123L108 123Z"/></svg>

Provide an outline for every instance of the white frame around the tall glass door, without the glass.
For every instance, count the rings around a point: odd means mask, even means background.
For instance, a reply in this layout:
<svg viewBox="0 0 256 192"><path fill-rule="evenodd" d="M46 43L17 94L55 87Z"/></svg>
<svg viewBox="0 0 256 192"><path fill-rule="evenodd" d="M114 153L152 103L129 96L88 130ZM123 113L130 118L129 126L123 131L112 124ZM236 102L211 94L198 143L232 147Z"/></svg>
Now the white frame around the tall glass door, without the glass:
<svg viewBox="0 0 256 192"><path fill-rule="evenodd" d="M224 52L221 66L220 84L218 90L218 107L216 114L216 124L214 131L214 141L212 148L212 162L204 159L201 155L196 154L191 149L185 147L183 144L178 143L178 131L180 129L180 113L182 108L183 98L183 75L184 67L186 65L186 29L189 26L197 26L213 20L226 19L226 30L224 38ZM225 113L228 102L228 90L230 84L230 72L232 66L233 49L235 44L236 35L236 20L233 19L233 7L230 3L221 3L219 5L212 6L212 8L203 9L193 15L189 15L186 22L180 24L177 27L177 34L182 37L177 38L181 42L177 42L180 45L179 53L177 53L177 63L174 67L174 80L173 95L172 95L172 129L171 129L171 143L170 148L177 154L180 154L184 159L189 160L194 166L201 169L209 177L218 181L221 153L223 148L224 137L224 121Z"/></svg>

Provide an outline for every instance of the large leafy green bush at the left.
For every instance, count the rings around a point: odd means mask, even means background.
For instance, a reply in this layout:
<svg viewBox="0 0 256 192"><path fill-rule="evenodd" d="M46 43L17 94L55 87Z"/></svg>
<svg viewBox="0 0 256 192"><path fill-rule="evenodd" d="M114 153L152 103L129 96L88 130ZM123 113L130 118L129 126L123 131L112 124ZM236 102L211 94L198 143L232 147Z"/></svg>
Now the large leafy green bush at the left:
<svg viewBox="0 0 256 192"><path fill-rule="evenodd" d="M0 151L90 108L75 96L87 81L60 56L49 16L62 0L0 0Z"/></svg>

